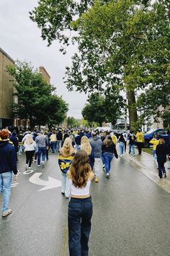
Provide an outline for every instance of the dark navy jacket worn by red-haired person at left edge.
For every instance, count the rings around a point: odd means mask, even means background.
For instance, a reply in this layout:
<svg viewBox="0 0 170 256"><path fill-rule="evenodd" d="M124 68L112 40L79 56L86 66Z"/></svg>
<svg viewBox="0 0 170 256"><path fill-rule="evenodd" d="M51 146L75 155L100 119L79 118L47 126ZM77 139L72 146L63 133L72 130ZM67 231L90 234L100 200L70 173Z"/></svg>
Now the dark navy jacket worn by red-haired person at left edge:
<svg viewBox="0 0 170 256"><path fill-rule="evenodd" d="M17 174L17 157L12 145L8 140L0 140L0 174L13 171Z"/></svg>

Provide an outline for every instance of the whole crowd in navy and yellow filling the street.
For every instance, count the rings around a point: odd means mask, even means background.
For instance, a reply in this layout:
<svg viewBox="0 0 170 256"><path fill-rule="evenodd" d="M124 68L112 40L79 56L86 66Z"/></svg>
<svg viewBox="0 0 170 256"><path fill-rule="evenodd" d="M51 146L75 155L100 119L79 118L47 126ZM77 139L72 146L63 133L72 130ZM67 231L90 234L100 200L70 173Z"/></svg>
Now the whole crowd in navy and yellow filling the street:
<svg viewBox="0 0 170 256"><path fill-rule="evenodd" d="M109 179L113 158L118 158L117 144L120 157L127 150L135 156L135 145L138 155L142 154L143 132L122 132L114 134L105 131L99 133L91 129L52 129L34 131L2 129L0 131L0 192L4 187L2 216L6 217L9 209L9 197L12 185L12 171L17 180L17 161L19 155L25 153L25 169L32 168L32 161L37 167L45 166L49 159L49 151L58 157L58 165L62 173L61 194L71 197L68 205L68 236L70 255L88 255L88 241L91 229L92 202L89 188L92 179L99 182L99 171L103 168L105 177ZM158 168L160 179L166 178L164 163L169 157L170 145L164 139L154 137L153 158ZM74 207L74 205L79 207ZM88 205L88 207L86 207ZM81 237L81 239L80 239Z"/></svg>

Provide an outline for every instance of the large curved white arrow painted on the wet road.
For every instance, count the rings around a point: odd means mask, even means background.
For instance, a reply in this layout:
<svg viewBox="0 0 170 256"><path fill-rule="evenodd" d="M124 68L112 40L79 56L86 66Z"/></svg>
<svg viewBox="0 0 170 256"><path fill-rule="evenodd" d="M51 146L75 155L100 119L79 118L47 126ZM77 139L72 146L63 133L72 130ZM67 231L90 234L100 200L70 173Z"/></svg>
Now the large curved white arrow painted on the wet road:
<svg viewBox="0 0 170 256"><path fill-rule="evenodd" d="M33 174L29 179L29 182L31 182L32 184L45 186L45 187L42 187L42 189L40 189L38 191L53 189L55 187L61 187L61 181L58 181L58 179L53 179L51 177L48 177L48 182L46 182L46 181L43 181L42 179L40 179L40 176L41 176L40 173L36 173L36 174Z"/></svg>

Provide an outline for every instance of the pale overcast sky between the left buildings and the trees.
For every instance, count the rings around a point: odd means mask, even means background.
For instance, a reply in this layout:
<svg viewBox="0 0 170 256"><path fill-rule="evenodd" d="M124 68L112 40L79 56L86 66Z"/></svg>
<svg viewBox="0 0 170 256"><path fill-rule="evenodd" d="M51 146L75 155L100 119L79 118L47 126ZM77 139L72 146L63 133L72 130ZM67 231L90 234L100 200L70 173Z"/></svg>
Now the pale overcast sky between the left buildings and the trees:
<svg viewBox="0 0 170 256"><path fill-rule="evenodd" d="M43 66L57 88L57 94L69 104L68 116L81 118L81 109L86 103L84 93L69 93L63 83L65 67L71 66L71 56L76 51L70 46L65 56L59 51L55 41L47 47L40 37L40 30L29 18L29 12L37 5L37 0L0 0L0 47L12 59L30 61L34 67Z"/></svg>

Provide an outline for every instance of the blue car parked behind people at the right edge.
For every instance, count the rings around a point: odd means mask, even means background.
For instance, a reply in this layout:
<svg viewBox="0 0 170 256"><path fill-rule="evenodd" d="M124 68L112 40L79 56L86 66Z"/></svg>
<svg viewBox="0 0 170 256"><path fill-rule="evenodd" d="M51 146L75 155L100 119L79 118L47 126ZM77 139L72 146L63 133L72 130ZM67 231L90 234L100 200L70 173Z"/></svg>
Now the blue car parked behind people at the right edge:
<svg viewBox="0 0 170 256"><path fill-rule="evenodd" d="M144 134L144 148L150 147L151 144L149 142L156 134L163 138L165 142L168 142L170 140L170 135L167 134L166 129L151 129L150 131L146 132L146 134Z"/></svg>

